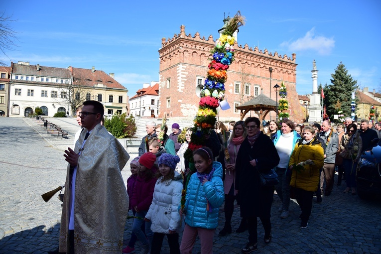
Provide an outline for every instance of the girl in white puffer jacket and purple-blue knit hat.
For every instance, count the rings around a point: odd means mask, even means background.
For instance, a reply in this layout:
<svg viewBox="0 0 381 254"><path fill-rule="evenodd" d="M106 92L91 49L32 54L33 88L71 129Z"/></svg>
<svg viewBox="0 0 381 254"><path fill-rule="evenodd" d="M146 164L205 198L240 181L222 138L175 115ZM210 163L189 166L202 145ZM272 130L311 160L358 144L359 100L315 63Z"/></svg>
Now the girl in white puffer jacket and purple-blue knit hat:
<svg viewBox="0 0 381 254"><path fill-rule="evenodd" d="M182 177L175 172L178 156L163 153L158 160L159 176L153 199L144 220L151 221L153 239L151 254L160 254L164 236L167 236L170 254L180 254L179 234L181 217L177 211L183 188Z"/></svg>

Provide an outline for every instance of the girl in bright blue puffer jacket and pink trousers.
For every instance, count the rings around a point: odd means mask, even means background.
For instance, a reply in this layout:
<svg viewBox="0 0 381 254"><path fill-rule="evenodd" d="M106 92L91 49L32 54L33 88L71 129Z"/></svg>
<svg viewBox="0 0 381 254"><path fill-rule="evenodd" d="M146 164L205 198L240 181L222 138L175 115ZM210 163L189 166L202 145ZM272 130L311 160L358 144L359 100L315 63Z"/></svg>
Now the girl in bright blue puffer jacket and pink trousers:
<svg viewBox="0 0 381 254"><path fill-rule="evenodd" d="M208 147L193 152L197 172L190 177L184 209L185 228L181 239L181 254L192 254L197 235L201 241L201 254L213 253L214 231L218 226L218 211L224 203L222 165L212 160Z"/></svg>

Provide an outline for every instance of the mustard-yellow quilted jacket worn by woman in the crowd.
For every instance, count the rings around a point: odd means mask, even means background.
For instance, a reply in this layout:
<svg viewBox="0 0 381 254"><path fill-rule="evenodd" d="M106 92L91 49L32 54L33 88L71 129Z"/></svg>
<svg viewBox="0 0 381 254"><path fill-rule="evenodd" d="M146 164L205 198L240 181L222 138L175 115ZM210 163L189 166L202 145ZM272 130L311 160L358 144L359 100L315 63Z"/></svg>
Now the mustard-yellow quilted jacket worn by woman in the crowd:
<svg viewBox="0 0 381 254"><path fill-rule="evenodd" d="M320 168L324 164L324 150L316 137L307 144L303 144L302 141L301 139L295 145L288 166L298 164L308 159L312 160L314 165L306 164L303 166L304 170L300 171L292 168L290 186L306 191L317 191L320 181Z"/></svg>

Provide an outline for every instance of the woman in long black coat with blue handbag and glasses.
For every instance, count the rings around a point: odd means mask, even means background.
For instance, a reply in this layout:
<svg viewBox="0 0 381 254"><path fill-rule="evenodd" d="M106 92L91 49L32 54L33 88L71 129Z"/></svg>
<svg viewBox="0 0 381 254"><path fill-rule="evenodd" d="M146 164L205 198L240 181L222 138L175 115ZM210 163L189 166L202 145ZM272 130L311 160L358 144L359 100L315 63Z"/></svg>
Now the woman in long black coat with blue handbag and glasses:
<svg viewBox="0 0 381 254"><path fill-rule="evenodd" d="M264 242L271 241L271 204L274 187L260 185L258 170L265 172L279 164L279 156L270 138L260 131L260 121L245 121L248 136L241 144L236 160L236 190L241 206L241 217L248 218L249 243L242 250L251 253L257 246L257 217L264 228Z"/></svg>

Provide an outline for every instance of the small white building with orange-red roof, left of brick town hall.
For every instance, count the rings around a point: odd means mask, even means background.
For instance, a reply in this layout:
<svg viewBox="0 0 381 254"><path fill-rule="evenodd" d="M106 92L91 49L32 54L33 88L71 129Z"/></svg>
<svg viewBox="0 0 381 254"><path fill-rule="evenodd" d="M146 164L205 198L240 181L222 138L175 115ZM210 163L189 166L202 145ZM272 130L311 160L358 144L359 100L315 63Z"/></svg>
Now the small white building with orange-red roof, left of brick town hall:
<svg viewBox="0 0 381 254"><path fill-rule="evenodd" d="M129 114L157 118L159 115L159 83L143 83L143 88L129 99Z"/></svg>

